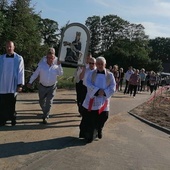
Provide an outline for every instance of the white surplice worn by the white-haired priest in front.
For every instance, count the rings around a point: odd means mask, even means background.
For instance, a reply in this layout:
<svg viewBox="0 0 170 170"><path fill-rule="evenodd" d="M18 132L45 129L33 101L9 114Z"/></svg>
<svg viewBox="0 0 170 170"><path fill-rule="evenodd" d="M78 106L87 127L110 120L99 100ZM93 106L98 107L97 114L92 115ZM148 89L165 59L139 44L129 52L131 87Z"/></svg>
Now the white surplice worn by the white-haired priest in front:
<svg viewBox="0 0 170 170"><path fill-rule="evenodd" d="M93 72L96 72L94 70ZM114 94L116 90L116 82L113 74L111 72L106 71L105 74L98 74L95 73L95 80L93 77L93 72L91 72L86 81L87 86L87 95L83 102L83 107L86 109L89 108L90 99L93 99L93 104L91 110L99 110L107 101L107 106L105 107L104 111L109 111L110 107L110 97ZM99 89L103 89L105 92L105 96L96 96L96 92Z"/></svg>

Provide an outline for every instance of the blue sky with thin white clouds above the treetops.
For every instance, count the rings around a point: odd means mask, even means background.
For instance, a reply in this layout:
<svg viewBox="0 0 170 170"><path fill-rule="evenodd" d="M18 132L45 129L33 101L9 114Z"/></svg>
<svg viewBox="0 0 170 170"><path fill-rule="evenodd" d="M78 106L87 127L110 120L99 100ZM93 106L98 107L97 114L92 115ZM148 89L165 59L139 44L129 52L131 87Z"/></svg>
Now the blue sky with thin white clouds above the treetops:
<svg viewBox="0 0 170 170"><path fill-rule="evenodd" d="M170 0L32 0L36 13L57 21L84 24L93 15L118 15L130 23L142 24L150 38L170 38Z"/></svg>

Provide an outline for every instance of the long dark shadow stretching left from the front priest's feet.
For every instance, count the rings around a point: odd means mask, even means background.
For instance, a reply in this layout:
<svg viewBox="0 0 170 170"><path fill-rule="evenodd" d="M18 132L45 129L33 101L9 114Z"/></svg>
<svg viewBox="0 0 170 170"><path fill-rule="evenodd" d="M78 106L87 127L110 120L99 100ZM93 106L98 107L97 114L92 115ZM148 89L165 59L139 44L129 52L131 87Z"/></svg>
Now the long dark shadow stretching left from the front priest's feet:
<svg viewBox="0 0 170 170"><path fill-rule="evenodd" d="M86 142L84 140L80 140L72 136L34 142L6 143L0 144L0 158L7 158L17 155L27 155L41 151L64 149L67 147L83 145L86 145Z"/></svg>

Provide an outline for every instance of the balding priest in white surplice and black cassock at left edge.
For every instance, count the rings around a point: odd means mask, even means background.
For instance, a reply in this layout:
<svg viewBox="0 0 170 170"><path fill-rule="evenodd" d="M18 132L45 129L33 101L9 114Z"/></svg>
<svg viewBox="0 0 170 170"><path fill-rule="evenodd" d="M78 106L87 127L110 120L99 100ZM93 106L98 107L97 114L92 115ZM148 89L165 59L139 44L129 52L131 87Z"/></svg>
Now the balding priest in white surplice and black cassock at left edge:
<svg viewBox="0 0 170 170"><path fill-rule="evenodd" d="M7 120L11 120L13 126L16 124L16 95L24 85L24 61L14 49L14 43L9 41L6 54L0 56L0 126Z"/></svg>

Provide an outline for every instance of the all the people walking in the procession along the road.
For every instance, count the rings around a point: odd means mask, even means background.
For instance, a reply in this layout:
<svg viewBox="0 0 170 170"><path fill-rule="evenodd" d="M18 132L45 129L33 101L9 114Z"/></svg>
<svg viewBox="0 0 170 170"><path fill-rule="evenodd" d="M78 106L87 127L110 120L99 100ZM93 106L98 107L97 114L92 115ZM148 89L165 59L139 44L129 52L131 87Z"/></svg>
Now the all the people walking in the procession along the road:
<svg viewBox="0 0 170 170"><path fill-rule="evenodd" d="M16 125L15 105L17 93L25 85L24 59L15 51L14 42L6 43L6 54L0 56L0 126L8 120ZM42 122L47 124L53 99L57 88L57 77L63 75L61 62L55 55L55 49L49 48L47 54L37 64L37 68L26 83L39 80L39 105L42 109ZM79 138L92 142L101 139L103 128L109 116L110 98L116 91L124 90L124 94L150 91L158 86L158 76L154 71L145 72L142 68L132 66L124 72L118 65L106 69L106 59L102 56L92 57L89 53L84 66L78 66L74 73L77 95L77 108L81 117ZM125 85L124 85L125 83ZM124 86L124 87L123 87Z"/></svg>

